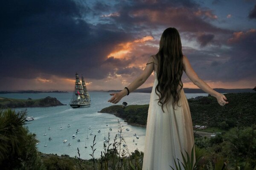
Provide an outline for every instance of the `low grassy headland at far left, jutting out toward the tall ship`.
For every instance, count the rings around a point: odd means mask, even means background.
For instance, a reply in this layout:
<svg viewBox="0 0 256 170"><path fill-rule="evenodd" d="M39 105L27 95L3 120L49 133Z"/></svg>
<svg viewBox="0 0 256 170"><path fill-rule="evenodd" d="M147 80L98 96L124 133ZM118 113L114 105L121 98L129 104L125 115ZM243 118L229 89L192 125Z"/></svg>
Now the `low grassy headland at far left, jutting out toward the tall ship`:
<svg viewBox="0 0 256 170"><path fill-rule="evenodd" d="M0 97L0 108L32 108L32 107L51 107L61 106L62 104L55 97L47 96L43 99L11 99Z"/></svg>

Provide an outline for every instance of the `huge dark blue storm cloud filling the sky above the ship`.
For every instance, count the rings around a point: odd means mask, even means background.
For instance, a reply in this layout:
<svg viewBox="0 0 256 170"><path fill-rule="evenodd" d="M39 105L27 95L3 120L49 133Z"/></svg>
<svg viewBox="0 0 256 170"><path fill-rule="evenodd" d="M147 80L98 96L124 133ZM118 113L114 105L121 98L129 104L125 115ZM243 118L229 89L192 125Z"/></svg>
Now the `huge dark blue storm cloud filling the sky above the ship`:
<svg viewBox="0 0 256 170"><path fill-rule="evenodd" d="M106 55L132 37L86 23L81 17L88 10L72 0L2 1L0 76L73 77L78 71L87 78L106 77L110 68L100 67Z"/></svg>

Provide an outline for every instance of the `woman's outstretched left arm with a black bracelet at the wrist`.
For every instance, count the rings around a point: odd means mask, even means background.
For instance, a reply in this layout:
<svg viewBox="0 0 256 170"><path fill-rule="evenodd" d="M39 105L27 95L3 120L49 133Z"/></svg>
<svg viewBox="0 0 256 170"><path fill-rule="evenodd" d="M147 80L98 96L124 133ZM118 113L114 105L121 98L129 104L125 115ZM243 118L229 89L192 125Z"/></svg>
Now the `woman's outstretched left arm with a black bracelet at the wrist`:
<svg viewBox="0 0 256 170"><path fill-rule="evenodd" d="M152 56L149 58L148 63L151 63L151 64L147 64L143 73L140 74L140 76L137 77L130 85L128 85L127 88L129 89L130 93L136 90L137 88L139 88L141 85L143 85L143 83L148 79L148 77L154 71L154 59ZM127 94L128 94L127 89L124 89L119 93L111 93L110 95L113 97L111 97L111 99L109 99L108 102L116 104Z"/></svg>

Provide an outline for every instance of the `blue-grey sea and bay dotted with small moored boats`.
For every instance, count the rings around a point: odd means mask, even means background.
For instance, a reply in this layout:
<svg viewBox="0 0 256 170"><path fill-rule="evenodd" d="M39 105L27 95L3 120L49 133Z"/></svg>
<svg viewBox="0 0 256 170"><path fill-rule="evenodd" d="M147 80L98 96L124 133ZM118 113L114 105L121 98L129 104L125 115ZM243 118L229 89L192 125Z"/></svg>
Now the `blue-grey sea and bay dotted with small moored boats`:
<svg viewBox="0 0 256 170"><path fill-rule="evenodd" d="M59 156L69 155L78 156L78 149L80 158L91 159L93 145L93 138L96 135L94 149L94 157L99 158L101 152L103 153L104 137L110 136L109 144L113 144L114 138L119 130L119 125L122 128L122 137L126 143L126 147L121 144L121 150L125 149L126 153L134 152L138 149L144 151L145 144L145 127L138 127L128 125L123 119L114 116L109 113L98 113L103 108L114 105L108 100L111 98L108 92L89 92L91 97L91 105L84 108L71 108L69 106L70 99L73 93L38 93L38 94L0 94L1 97L8 97L14 99L41 99L47 96L56 97L61 103L66 104L63 106L46 107L46 108L16 108L16 111L27 110L27 116L33 116L35 120L26 122L25 127L29 129L31 133L36 134L38 139L38 145L36 147L42 153L53 153ZM208 96L208 94L186 94L187 99L191 99L196 96ZM127 102L128 105L145 105L149 104L149 93L131 93L128 96L122 98L122 100L116 105L122 105L122 102ZM119 122L119 124L118 124ZM70 125L70 127L67 127ZM91 130L89 129L91 126ZM48 128L50 127L50 130ZM62 130L60 128L62 127ZM109 130L109 128L112 130ZM129 130L126 130L129 128ZM76 131L78 134L76 134ZM101 131L101 133L98 132ZM93 135L90 135L90 133ZM46 136L44 134L47 133ZM136 133L139 139L134 136ZM75 139L72 138L76 135ZM87 139L87 136L89 139ZM48 140L51 137L52 140ZM64 143L64 140L67 140ZM80 139L80 142L78 142ZM134 139L134 142L133 142ZM120 138L117 136L116 142L119 142ZM68 144L71 144L68 146ZM137 143L137 144L136 144ZM107 147L108 147L108 143ZM47 145L47 147L45 147ZM87 145L87 148L84 146ZM111 145L110 148L113 148Z"/></svg>

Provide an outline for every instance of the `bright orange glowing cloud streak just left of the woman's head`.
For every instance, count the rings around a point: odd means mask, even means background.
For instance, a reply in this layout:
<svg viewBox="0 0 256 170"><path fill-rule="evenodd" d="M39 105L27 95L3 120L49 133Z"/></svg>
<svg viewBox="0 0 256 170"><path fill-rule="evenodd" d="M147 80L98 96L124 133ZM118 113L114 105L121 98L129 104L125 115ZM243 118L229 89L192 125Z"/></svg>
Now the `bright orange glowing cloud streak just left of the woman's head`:
<svg viewBox="0 0 256 170"><path fill-rule="evenodd" d="M154 40L152 36L145 36L141 39L134 40L132 42L125 42L125 43L120 43L115 47L115 50L111 52L111 54L108 55L109 57L114 57L114 58L124 58L125 55L131 53L131 51L134 49L134 46L140 43L145 43L149 40Z"/></svg>

